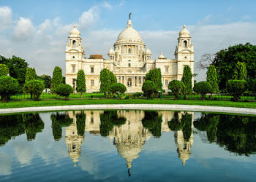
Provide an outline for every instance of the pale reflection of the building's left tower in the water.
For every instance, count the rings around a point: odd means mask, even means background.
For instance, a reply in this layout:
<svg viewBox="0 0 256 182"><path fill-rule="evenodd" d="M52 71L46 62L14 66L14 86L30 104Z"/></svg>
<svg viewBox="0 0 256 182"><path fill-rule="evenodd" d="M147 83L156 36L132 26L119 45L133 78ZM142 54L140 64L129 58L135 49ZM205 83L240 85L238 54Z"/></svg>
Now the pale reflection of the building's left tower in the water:
<svg viewBox="0 0 256 182"><path fill-rule="evenodd" d="M83 140L84 140L84 135L80 136L78 135L78 128L76 124L76 117L75 111L68 111L67 114L69 115L70 118L73 119L73 123L70 124L69 127L65 127L66 129L66 144L67 144L67 149L69 152L69 157L70 159L73 160L74 166L76 162L78 162L78 158L80 157L80 152L81 152L81 146L83 145Z"/></svg>

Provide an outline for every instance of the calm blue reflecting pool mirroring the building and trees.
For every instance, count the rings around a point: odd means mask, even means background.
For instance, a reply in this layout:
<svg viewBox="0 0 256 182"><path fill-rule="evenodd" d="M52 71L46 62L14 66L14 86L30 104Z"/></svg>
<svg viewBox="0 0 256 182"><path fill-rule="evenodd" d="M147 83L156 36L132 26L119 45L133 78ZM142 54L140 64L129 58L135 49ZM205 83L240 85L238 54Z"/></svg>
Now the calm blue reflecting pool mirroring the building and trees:
<svg viewBox="0 0 256 182"><path fill-rule="evenodd" d="M0 181L255 181L256 116L0 115Z"/></svg>

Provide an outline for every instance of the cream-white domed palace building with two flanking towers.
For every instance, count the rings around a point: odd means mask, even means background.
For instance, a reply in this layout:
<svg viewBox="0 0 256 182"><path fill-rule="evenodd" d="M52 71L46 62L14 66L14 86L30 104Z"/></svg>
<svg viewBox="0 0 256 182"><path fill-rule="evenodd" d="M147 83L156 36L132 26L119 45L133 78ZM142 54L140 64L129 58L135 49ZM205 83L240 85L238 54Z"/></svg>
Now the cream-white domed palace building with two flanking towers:
<svg viewBox="0 0 256 182"><path fill-rule="evenodd" d="M83 69L86 74L86 92L99 92L99 74L103 68L113 71L117 82L127 87L127 92L141 92L145 76L153 68L161 68L164 90L167 90L171 80L181 80L184 66L190 66L194 74L194 47L185 25L178 35L174 59L167 59L161 53L156 60L152 60L151 51L146 48L140 33L132 27L130 19L127 28L121 31L113 48L108 51L107 60L102 55L84 58L84 47L76 25L70 31L65 53L66 83L75 90L78 71Z"/></svg>

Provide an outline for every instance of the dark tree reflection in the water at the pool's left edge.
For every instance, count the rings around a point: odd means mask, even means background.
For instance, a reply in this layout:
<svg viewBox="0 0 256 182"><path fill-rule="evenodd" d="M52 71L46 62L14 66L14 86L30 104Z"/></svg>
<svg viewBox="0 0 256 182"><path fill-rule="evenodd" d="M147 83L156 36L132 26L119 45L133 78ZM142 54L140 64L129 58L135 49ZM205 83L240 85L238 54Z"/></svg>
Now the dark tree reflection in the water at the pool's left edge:
<svg viewBox="0 0 256 182"><path fill-rule="evenodd" d="M0 145L24 133L22 114L0 116Z"/></svg>

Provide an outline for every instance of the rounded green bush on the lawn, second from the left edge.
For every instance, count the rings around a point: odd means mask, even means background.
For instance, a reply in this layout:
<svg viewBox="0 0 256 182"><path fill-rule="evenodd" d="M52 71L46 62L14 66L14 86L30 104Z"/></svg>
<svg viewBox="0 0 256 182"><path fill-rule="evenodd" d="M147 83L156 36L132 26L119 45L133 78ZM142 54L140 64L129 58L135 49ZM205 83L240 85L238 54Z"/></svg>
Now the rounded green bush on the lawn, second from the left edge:
<svg viewBox="0 0 256 182"><path fill-rule="evenodd" d="M26 82L23 87L24 92L33 95L34 100L39 100L42 90L44 89L45 84L42 80L39 79L32 79L29 82Z"/></svg>

